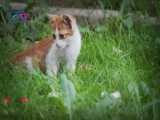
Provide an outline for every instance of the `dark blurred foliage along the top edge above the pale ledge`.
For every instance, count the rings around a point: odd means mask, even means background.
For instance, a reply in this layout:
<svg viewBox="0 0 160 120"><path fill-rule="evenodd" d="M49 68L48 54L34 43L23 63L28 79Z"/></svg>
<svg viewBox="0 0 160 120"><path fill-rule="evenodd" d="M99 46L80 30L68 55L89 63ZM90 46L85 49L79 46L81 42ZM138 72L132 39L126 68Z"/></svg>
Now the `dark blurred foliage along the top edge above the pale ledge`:
<svg viewBox="0 0 160 120"><path fill-rule="evenodd" d="M39 0L13 0L14 2L38 3ZM105 8L124 10L125 12L139 11L151 16L160 15L159 0L40 0L43 4L60 7L76 8Z"/></svg>

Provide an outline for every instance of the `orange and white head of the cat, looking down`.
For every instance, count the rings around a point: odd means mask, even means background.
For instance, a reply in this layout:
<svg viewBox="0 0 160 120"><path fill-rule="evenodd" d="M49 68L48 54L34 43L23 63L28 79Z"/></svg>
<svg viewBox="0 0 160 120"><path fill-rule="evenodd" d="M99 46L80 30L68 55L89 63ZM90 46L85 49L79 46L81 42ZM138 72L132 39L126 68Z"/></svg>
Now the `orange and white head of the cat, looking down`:
<svg viewBox="0 0 160 120"><path fill-rule="evenodd" d="M64 48L73 35L75 18L71 15L50 15L50 25L54 31L55 42L58 48Z"/></svg>

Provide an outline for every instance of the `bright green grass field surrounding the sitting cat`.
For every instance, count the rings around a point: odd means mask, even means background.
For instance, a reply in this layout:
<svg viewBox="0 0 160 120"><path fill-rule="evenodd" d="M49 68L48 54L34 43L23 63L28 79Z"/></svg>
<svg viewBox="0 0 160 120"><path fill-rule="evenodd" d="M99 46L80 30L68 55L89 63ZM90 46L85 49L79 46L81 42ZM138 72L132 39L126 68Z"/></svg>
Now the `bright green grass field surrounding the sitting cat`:
<svg viewBox="0 0 160 120"><path fill-rule="evenodd" d="M39 70L31 76L23 66L8 63L27 46L26 38L49 35L47 24L31 21L21 24L14 35L4 32L0 38L0 119L159 120L160 29L129 26L124 21L111 19L95 29L81 27L83 45L76 73L55 78ZM7 104L6 97L11 99ZM21 97L29 102L18 102Z"/></svg>

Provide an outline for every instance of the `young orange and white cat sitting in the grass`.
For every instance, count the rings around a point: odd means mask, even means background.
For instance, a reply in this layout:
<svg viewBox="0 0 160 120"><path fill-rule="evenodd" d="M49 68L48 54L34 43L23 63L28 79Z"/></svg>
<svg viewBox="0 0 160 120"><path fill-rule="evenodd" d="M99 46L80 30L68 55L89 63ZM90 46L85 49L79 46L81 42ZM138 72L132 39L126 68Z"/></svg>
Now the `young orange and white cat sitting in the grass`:
<svg viewBox="0 0 160 120"><path fill-rule="evenodd" d="M74 72L81 49L81 35L76 19L71 15L50 15L49 18L53 36L18 53L13 61L25 63L30 72L39 67L48 75L56 75L60 63L65 61L66 68Z"/></svg>

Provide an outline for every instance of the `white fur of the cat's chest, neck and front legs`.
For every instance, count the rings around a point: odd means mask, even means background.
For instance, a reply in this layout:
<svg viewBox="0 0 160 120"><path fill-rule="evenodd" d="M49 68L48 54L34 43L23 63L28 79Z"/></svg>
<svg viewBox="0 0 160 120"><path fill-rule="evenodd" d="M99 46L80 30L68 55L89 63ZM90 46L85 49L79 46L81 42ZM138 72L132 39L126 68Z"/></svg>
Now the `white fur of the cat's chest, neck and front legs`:
<svg viewBox="0 0 160 120"><path fill-rule="evenodd" d="M66 68L74 72L77 57L81 48L81 35L75 21L72 21L73 35L66 40L60 40L58 30L55 31L56 40L46 56L46 69L48 75L57 74L59 64L65 60ZM58 46L57 46L58 45Z"/></svg>

